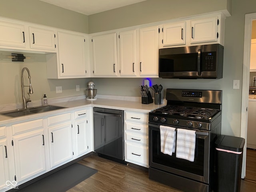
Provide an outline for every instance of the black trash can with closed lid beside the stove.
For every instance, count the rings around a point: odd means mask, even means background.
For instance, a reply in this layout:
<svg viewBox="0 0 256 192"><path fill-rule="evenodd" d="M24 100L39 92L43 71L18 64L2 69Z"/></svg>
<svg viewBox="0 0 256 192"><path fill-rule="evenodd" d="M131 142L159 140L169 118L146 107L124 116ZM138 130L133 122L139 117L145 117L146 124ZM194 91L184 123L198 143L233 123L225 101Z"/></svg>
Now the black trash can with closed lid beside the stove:
<svg viewBox="0 0 256 192"><path fill-rule="evenodd" d="M216 140L216 191L240 192L244 142L227 135Z"/></svg>

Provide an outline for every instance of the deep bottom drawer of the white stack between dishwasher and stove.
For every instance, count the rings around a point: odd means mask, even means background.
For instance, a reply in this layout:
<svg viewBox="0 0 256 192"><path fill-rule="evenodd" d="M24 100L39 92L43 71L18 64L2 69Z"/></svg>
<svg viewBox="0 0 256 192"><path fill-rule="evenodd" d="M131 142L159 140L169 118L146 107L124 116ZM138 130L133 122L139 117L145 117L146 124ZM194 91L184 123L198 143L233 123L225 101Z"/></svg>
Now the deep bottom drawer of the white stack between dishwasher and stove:
<svg viewBox="0 0 256 192"><path fill-rule="evenodd" d="M148 165L148 147L125 143L126 159Z"/></svg>

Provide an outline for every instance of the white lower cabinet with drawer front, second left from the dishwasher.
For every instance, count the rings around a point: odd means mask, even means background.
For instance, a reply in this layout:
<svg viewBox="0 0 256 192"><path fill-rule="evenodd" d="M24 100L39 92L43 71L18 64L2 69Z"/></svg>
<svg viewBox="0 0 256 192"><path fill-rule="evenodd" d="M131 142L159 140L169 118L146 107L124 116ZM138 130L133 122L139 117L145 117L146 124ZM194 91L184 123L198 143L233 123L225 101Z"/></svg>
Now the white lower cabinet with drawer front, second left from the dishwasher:
<svg viewBox="0 0 256 192"><path fill-rule="evenodd" d="M73 159L71 113L48 117L50 168L56 168Z"/></svg>

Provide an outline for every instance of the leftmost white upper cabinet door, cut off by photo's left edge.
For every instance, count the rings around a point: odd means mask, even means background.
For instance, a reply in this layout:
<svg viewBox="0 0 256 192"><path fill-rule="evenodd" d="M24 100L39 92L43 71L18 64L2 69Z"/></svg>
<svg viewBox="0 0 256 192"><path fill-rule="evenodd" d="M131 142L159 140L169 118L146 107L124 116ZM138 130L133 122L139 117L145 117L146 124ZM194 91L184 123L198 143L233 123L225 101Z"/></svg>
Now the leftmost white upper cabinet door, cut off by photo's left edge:
<svg viewBox="0 0 256 192"><path fill-rule="evenodd" d="M0 46L25 48L24 25L0 21Z"/></svg>

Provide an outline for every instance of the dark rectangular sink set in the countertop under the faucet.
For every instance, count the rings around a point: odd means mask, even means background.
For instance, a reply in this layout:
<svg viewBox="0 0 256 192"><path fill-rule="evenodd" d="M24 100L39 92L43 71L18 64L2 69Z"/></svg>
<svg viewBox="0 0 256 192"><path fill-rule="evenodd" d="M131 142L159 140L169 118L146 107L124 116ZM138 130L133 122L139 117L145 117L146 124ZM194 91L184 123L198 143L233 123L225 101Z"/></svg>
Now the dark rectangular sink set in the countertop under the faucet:
<svg viewBox="0 0 256 192"><path fill-rule="evenodd" d="M31 108L26 108L26 109L17 109L17 110L12 110L12 111L6 111L6 112L1 112L0 114L8 116L8 117L20 117L20 116L31 115L31 114L36 114L36 113L43 113L43 112L58 110L58 109L63 109L63 108L65 108L65 107L47 105L47 106L38 106L38 107L31 107Z"/></svg>

